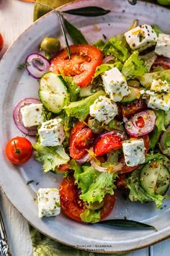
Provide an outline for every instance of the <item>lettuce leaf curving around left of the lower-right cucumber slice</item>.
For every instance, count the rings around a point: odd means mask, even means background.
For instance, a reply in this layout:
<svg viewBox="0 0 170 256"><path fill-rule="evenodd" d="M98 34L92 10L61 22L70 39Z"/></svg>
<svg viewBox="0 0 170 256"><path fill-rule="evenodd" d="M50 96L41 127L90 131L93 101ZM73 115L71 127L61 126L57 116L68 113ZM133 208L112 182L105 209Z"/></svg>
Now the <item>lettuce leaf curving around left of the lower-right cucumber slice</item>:
<svg viewBox="0 0 170 256"><path fill-rule="evenodd" d="M129 198L131 201L140 201L140 202L156 202L157 208L161 208L164 197L161 195L151 195L148 194L140 186L140 171L142 166L133 171L128 179L126 179L126 184L130 189Z"/></svg>

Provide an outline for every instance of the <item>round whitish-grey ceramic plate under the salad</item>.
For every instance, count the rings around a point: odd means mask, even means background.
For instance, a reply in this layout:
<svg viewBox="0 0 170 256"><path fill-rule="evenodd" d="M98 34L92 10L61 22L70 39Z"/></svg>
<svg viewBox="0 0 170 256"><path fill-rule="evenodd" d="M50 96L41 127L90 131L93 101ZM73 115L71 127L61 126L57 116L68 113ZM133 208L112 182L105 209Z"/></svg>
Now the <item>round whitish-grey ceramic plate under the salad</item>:
<svg viewBox="0 0 170 256"><path fill-rule="evenodd" d="M123 33L128 30L136 18L140 20L140 24L156 23L165 33L170 33L169 10L140 1L133 7L126 0L84 0L68 4L62 9L89 5L104 7L112 11L103 17L86 18L68 15L68 20L81 28L89 43L102 38L102 34L109 38L112 35ZM170 235L170 203L166 201L162 210L156 210L152 203L142 205L122 200L119 197L115 210L109 216L109 218L126 216L128 219L150 223L156 226L158 232L110 229L97 224L76 223L62 214L56 218L38 218L37 202L34 200L37 189L58 187L61 176L43 174L40 163L33 159L23 166L14 166L6 161L4 148L10 138L22 136L12 119L14 105L22 98L37 97L37 81L26 71L19 71L17 67L24 62L27 54L38 50L38 44L43 37L50 35L60 38L61 45L63 45L58 17L54 12L42 17L25 30L0 61L0 186L32 226L53 239L73 247L99 252L125 252L165 239ZM27 186L27 181L31 179L35 182ZM39 182L37 186L36 182Z"/></svg>

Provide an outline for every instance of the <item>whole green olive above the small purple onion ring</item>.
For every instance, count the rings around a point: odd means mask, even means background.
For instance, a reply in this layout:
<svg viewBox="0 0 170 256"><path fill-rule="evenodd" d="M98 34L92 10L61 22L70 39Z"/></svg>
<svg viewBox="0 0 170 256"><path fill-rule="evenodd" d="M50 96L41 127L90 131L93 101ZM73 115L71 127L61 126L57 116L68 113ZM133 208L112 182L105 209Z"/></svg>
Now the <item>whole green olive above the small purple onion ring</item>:
<svg viewBox="0 0 170 256"><path fill-rule="evenodd" d="M61 48L61 43L57 38L43 38L40 43L41 51L47 54L57 54Z"/></svg>

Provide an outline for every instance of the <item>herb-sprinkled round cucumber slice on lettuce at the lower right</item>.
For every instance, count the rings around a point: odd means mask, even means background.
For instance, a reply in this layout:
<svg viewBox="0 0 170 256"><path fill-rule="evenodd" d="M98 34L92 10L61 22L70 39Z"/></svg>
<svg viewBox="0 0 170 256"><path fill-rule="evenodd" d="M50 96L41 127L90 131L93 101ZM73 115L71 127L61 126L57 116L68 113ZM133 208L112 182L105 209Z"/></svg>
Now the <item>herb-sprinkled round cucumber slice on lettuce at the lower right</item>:
<svg viewBox="0 0 170 256"><path fill-rule="evenodd" d="M169 188L169 170L162 161L151 161L140 172L140 184L149 194L164 195Z"/></svg>

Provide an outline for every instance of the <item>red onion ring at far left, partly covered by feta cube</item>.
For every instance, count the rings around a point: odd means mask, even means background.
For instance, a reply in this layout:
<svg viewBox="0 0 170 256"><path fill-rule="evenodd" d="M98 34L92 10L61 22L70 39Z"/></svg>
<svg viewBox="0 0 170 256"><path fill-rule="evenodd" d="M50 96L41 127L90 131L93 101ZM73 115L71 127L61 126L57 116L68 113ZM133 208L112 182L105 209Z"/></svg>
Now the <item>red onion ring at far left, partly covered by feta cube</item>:
<svg viewBox="0 0 170 256"><path fill-rule="evenodd" d="M25 135L29 136L35 136L37 133L36 127L24 127L24 124L22 122L22 114L21 114L21 108L24 106L28 106L32 103L40 103L40 101L37 98L24 98L21 101L17 103L17 105L14 107L13 111L13 119L17 126L17 128L23 132Z"/></svg>

